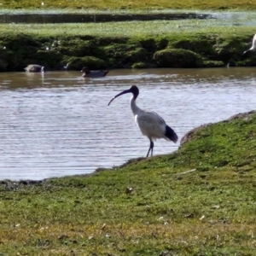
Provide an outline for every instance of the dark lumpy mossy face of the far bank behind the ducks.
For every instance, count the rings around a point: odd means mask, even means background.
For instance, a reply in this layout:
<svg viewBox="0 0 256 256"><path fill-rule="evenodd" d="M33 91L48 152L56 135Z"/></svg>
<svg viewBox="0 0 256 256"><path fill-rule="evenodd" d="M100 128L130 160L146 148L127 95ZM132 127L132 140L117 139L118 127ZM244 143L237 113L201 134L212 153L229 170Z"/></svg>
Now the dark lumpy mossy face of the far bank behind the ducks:
<svg viewBox="0 0 256 256"><path fill-rule="evenodd" d="M255 66L250 37L219 34L171 34L157 37L46 37L26 33L0 35L0 71L24 71L27 64L46 70L98 68Z"/></svg>

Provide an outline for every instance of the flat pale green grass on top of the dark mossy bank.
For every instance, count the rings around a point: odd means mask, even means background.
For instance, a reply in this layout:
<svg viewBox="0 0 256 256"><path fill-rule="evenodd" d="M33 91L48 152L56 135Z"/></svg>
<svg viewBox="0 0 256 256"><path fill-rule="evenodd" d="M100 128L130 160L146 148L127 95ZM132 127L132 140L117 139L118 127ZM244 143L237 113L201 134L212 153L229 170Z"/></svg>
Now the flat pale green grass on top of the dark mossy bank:
<svg viewBox="0 0 256 256"><path fill-rule="evenodd" d="M42 36L90 35L101 37L143 37L195 33L231 35L253 33L253 27L226 26L226 20L154 20L106 23L0 24L0 32L26 32Z"/></svg>

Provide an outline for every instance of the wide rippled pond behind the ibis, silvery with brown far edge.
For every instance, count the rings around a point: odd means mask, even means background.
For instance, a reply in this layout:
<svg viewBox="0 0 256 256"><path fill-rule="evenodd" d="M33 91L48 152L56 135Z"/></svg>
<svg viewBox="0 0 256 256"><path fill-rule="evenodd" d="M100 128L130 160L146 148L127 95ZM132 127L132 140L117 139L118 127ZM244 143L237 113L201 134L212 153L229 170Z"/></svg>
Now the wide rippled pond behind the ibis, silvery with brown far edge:
<svg viewBox="0 0 256 256"><path fill-rule="evenodd" d="M112 70L101 79L79 72L0 73L0 179L42 179L95 171L145 156L130 96L159 113L179 138L197 125L256 109L255 68ZM154 154L178 144L158 140Z"/></svg>

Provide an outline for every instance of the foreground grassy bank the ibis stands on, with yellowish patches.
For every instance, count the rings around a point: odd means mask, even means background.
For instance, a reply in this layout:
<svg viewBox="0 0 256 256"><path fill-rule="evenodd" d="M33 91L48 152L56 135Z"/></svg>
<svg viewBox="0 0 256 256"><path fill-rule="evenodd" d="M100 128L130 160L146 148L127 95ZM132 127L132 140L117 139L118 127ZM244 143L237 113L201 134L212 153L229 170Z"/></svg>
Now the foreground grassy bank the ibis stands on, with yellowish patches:
<svg viewBox="0 0 256 256"><path fill-rule="evenodd" d="M191 132L173 154L85 177L3 181L0 253L255 255L255 131L247 113Z"/></svg>

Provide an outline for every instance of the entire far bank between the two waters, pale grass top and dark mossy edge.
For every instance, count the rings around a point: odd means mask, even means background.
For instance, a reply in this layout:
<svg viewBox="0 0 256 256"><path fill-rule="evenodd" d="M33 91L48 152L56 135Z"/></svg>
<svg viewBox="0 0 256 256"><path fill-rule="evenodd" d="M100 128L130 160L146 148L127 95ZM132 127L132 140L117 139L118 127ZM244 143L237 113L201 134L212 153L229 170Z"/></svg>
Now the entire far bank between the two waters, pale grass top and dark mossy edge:
<svg viewBox="0 0 256 256"><path fill-rule="evenodd" d="M218 20L0 25L0 71L255 66L253 28ZM213 24L214 23L214 24ZM23 31L23 32L22 32Z"/></svg>

